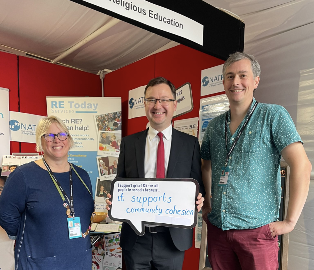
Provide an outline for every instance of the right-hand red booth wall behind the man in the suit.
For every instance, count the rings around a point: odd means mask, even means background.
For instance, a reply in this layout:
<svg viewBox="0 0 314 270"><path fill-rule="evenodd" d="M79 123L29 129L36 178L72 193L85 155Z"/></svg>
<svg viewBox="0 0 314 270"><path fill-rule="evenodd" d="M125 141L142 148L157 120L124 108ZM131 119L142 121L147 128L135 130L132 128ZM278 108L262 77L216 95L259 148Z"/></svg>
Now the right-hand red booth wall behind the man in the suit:
<svg viewBox="0 0 314 270"><path fill-rule="evenodd" d="M122 97L122 116L123 119L127 119L128 91L141 85L146 85L154 77L163 76L170 80L176 87L186 82L191 83L193 110L174 120L198 117L201 99L201 71L202 69L208 69L223 63L224 61L221 59L179 45L107 74L104 80L105 96ZM112 91L113 89L114 91ZM127 124L126 121L123 121L122 135L130 135L146 129L147 123L146 116L128 119ZM193 247L185 253L182 269L198 270L199 254L200 249L194 248L193 240Z"/></svg>

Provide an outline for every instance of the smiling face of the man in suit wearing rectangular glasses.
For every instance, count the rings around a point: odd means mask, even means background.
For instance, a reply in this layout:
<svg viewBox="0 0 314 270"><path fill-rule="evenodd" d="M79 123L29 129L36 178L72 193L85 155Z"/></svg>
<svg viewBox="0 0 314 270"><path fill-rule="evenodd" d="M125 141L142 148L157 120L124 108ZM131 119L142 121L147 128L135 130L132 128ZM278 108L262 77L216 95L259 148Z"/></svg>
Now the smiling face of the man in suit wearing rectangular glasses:
<svg viewBox="0 0 314 270"><path fill-rule="evenodd" d="M165 83L149 86L146 91L145 99L146 98L174 99L170 87ZM167 106L161 106L159 101L157 101L155 105L146 104L145 102L145 113L151 127L158 131L169 127L176 107L176 101L169 102Z"/></svg>

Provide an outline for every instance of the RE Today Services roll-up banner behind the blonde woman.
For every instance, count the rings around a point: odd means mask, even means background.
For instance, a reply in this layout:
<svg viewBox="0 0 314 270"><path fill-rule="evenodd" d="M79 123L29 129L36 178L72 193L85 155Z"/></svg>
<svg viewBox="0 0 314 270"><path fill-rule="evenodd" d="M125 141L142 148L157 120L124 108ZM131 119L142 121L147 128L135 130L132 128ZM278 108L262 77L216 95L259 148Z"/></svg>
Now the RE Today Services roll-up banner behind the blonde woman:
<svg viewBox="0 0 314 270"><path fill-rule="evenodd" d="M99 177L96 157L119 156L121 97L47 97L47 115L66 124L74 140L68 162L89 174L95 194ZM105 136L106 135L106 136Z"/></svg>

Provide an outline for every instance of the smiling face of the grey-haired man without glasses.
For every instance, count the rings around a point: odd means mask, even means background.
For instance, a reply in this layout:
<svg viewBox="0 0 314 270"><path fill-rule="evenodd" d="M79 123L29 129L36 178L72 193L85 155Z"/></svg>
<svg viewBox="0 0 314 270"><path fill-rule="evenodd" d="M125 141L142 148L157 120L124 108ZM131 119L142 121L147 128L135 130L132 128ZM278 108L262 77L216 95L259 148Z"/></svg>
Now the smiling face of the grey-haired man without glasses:
<svg viewBox="0 0 314 270"><path fill-rule="evenodd" d="M226 68L223 80L230 105L249 106L253 99L253 90L257 88L258 83L259 76L254 78L249 59L232 63Z"/></svg>

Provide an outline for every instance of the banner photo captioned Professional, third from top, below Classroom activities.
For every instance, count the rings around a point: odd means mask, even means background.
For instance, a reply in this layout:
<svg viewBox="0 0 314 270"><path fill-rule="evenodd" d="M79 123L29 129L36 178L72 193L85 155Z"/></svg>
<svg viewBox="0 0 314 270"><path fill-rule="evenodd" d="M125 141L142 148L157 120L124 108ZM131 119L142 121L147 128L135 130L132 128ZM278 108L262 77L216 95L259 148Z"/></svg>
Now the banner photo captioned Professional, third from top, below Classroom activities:
<svg viewBox="0 0 314 270"><path fill-rule="evenodd" d="M100 156L97 158L97 167L100 180L113 180L116 178L119 157Z"/></svg>

